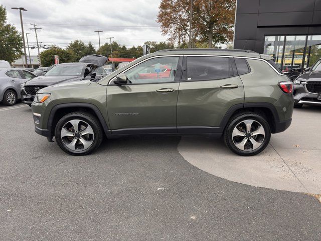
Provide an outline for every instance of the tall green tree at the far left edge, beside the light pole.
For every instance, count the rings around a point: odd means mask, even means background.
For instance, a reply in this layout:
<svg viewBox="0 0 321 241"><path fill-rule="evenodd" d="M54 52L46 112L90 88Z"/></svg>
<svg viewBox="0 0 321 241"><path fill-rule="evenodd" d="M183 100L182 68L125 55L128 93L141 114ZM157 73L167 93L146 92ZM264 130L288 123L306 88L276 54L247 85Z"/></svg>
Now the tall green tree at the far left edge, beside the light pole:
<svg viewBox="0 0 321 241"><path fill-rule="evenodd" d="M16 27L7 24L7 11L0 6L0 59L10 63L23 55L22 36Z"/></svg>

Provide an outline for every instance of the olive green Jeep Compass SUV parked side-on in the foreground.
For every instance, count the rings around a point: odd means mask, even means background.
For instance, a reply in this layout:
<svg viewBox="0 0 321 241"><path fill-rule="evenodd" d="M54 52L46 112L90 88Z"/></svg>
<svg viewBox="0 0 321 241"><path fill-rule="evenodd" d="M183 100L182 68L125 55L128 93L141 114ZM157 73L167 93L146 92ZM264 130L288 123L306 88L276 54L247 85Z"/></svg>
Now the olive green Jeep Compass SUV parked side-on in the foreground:
<svg viewBox="0 0 321 241"><path fill-rule="evenodd" d="M286 130L293 84L272 57L246 50L172 49L110 75L49 86L32 103L35 131L71 155L128 135L223 136L251 156Z"/></svg>

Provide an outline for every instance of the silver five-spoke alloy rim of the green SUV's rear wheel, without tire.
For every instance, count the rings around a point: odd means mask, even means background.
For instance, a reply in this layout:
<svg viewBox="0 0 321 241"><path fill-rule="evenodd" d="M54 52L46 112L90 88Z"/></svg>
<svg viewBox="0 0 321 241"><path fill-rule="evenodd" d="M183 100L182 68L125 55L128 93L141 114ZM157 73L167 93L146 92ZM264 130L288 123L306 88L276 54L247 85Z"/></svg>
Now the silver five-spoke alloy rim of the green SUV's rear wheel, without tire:
<svg viewBox="0 0 321 241"><path fill-rule="evenodd" d="M240 122L233 129L232 140L234 145L242 151L258 149L265 138L263 126L253 119Z"/></svg>

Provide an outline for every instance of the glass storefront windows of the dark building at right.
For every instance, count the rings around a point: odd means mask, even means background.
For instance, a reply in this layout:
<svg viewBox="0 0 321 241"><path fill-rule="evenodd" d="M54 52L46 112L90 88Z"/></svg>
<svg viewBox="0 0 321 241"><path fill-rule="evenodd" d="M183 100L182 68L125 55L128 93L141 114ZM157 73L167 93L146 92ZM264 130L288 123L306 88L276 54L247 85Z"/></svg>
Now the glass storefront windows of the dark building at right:
<svg viewBox="0 0 321 241"><path fill-rule="evenodd" d="M311 67L321 58L321 35L265 36L264 54L283 72Z"/></svg>

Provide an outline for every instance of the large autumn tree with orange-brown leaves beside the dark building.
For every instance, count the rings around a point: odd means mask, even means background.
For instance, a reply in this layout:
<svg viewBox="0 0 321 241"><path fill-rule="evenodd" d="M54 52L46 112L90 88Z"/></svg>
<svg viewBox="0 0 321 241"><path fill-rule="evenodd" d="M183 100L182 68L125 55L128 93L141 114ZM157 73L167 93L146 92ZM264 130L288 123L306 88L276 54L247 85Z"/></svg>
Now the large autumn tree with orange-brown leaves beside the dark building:
<svg viewBox="0 0 321 241"><path fill-rule="evenodd" d="M192 40L213 44L227 43L233 39L235 0L194 0ZM171 42L188 41L190 25L190 0L162 0L157 22Z"/></svg>

